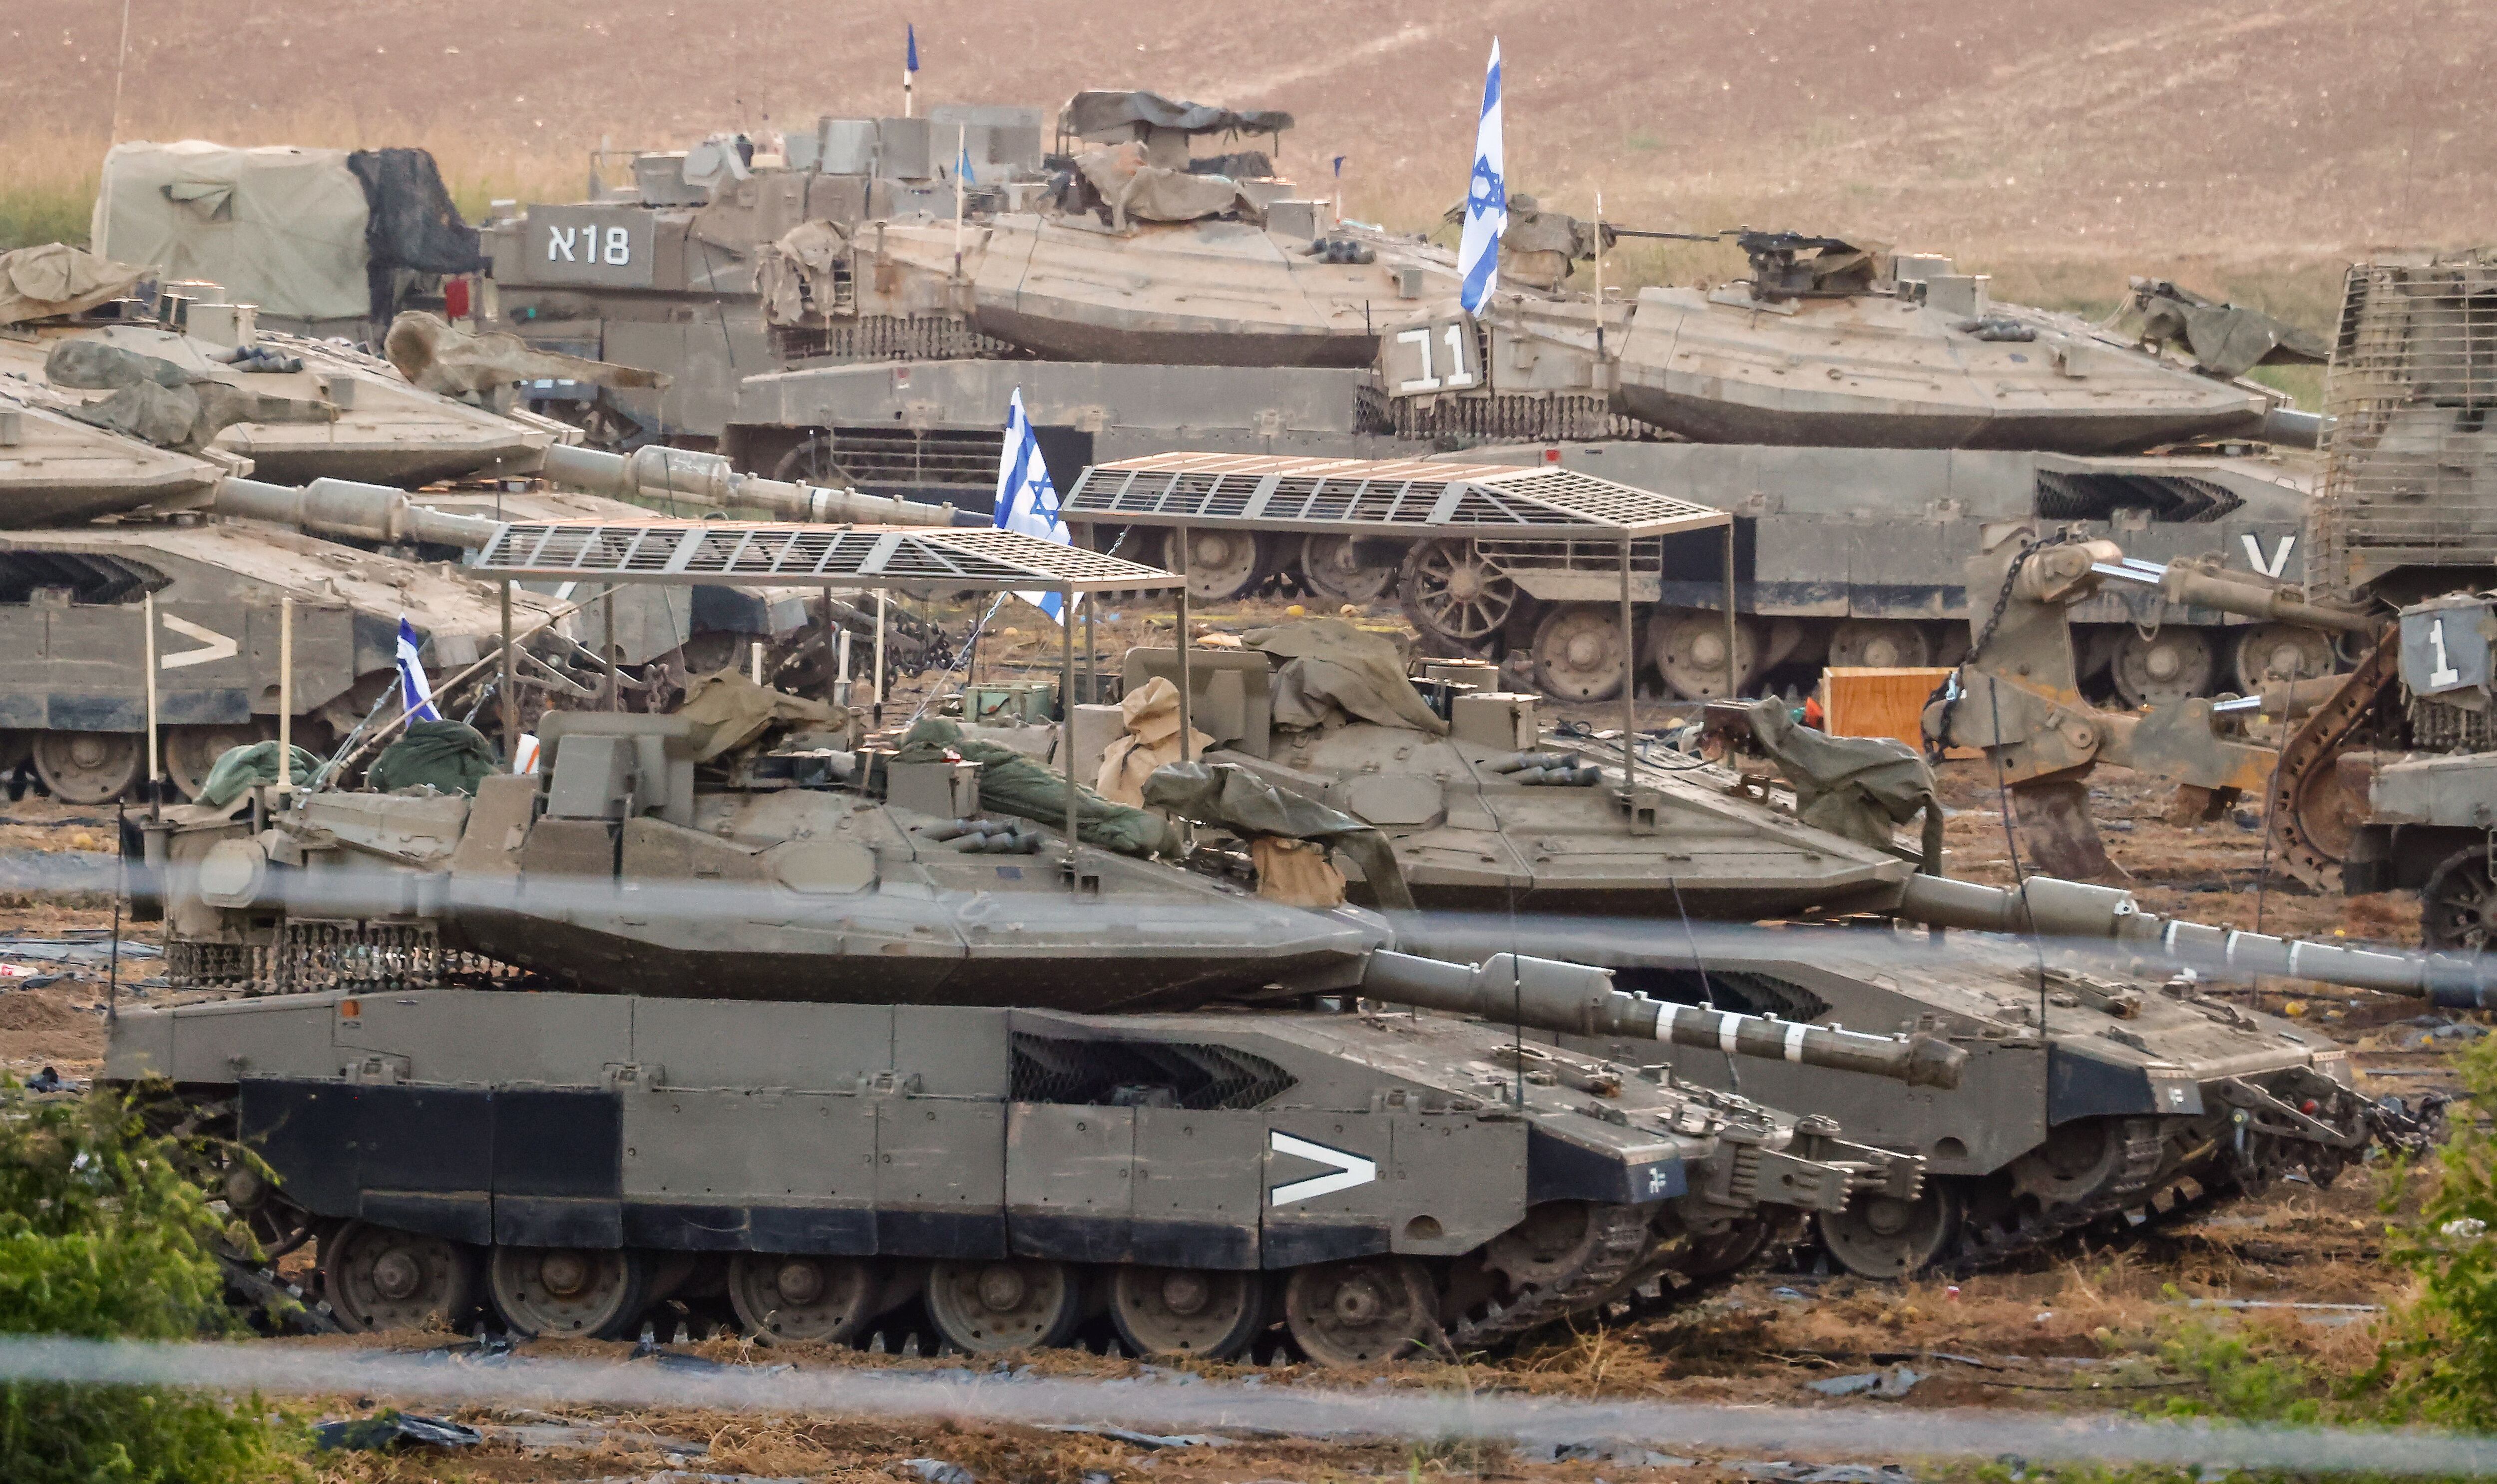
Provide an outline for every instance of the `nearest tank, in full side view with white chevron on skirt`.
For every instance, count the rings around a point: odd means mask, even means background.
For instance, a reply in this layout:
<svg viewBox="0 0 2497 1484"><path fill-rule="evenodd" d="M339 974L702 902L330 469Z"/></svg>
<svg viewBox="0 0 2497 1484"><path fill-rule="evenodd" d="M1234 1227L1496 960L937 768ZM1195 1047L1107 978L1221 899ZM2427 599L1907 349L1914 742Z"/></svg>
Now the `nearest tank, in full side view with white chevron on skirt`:
<svg viewBox="0 0 2497 1484"><path fill-rule="evenodd" d="M1408 954L1214 862L1069 847L996 762L714 700L549 717L544 772L474 799L150 827L172 974L242 997L125 1009L107 1079L232 1109L277 1182L227 1204L320 1242L345 1324L629 1334L679 1297L844 1342L916 1299L964 1352L1101 1309L1154 1357L1276 1322L1326 1364L1481 1349L1923 1177L1516 1022L1918 1087L1968 1062ZM782 722L712 752L757 707Z"/></svg>

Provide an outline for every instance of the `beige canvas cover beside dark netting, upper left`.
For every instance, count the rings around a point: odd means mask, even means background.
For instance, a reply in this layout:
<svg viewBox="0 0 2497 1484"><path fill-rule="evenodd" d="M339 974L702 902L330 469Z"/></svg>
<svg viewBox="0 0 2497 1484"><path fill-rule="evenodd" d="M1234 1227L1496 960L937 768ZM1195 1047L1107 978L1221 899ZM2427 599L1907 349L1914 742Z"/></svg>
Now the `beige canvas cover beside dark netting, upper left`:
<svg viewBox="0 0 2497 1484"><path fill-rule="evenodd" d="M347 150L130 142L105 155L90 237L102 257L225 285L265 315L362 320L367 217Z"/></svg>

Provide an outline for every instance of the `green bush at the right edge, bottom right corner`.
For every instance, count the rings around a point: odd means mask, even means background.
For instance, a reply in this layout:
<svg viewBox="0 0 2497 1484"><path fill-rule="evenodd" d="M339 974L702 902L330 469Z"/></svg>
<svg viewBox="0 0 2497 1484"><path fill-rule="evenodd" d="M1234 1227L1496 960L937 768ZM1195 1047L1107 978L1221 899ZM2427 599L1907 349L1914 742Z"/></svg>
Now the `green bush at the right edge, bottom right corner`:
<svg viewBox="0 0 2497 1484"><path fill-rule="evenodd" d="M2472 1107L2497 1109L2497 1037L2460 1057ZM2497 1139L2457 1117L2437 1152L2420 1217L2395 1229L2387 1257L2420 1274L2420 1294L2390 1319L2370 1382L2400 1417L2497 1427ZM2387 1214L2407 1182L2395 1179Z"/></svg>

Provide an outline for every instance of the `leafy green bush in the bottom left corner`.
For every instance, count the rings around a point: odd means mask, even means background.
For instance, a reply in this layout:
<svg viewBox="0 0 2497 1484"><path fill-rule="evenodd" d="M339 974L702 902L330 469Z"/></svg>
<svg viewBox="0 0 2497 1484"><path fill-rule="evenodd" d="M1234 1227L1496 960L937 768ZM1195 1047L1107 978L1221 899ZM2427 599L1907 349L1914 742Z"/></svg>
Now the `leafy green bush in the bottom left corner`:
<svg viewBox="0 0 2497 1484"><path fill-rule="evenodd" d="M232 1327L197 1149L120 1097L0 1084L0 1334L187 1339ZM0 1479L225 1484L295 1474L260 1399L157 1387L0 1387Z"/></svg>

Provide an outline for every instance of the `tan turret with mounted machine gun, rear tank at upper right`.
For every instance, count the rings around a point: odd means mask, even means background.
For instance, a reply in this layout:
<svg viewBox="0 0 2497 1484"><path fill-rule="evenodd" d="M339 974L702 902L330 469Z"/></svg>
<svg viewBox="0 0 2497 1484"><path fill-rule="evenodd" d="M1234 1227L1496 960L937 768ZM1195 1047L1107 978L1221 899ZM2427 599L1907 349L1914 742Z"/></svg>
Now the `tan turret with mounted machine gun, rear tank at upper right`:
<svg viewBox="0 0 2497 1484"><path fill-rule="evenodd" d="M2317 425L2240 380L2325 347L2252 310L2137 282L2157 345L2070 315L1998 305L1948 257L1838 237L1740 232L1750 280L1638 292L1621 342L1621 412L1695 442L2005 447L2073 455L2260 437L2315 445ZM2230 332L2200 320L2260 322ZM2195 322L2200 337L2185 330ZM2247 355L2252 340L2252 355Z"/></svg>

